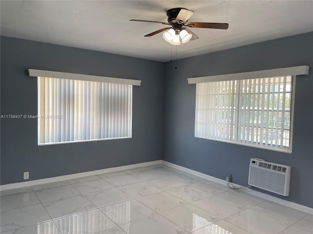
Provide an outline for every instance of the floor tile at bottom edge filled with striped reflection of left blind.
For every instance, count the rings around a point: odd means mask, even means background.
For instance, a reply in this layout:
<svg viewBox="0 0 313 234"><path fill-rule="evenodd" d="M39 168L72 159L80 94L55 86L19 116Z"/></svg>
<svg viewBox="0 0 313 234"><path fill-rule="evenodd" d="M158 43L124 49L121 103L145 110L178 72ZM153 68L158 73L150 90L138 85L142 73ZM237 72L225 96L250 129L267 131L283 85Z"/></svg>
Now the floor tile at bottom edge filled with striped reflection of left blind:
<svg viewBox="0 0 313 234"><path fill-rule="evenodd" d="M98 234L116 227L112 220L98 209L65 216L55 219L54 222L63 234Z"/></svg>

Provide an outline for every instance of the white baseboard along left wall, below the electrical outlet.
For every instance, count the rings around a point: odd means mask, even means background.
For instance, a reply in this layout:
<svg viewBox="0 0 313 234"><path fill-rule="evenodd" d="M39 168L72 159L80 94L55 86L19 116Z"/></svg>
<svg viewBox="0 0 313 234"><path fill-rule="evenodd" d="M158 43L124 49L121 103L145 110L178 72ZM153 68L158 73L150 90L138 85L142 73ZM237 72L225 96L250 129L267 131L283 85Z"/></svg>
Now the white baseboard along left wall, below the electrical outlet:
<svg viewBox="0 0 313 234"><path fill-rule="evenodd" d="M51 177L51 178L45 178L45 179L25 181L25 182L20 182L20 183L4 184L4 185L0 185L0 191L9 190L9 189L18 189L18 188L34 186L34 185L39 185L39 184L58 182L62 180L75 179L75 178L80 178L80 177L85 177L85 176L94 176L94 175L99 175L99 174L108 173L108 172L116 172L116 171L122 171L122 170L127 170L127 169L133 169L137 167L151 166L151 165L160 164L160 163L161 163L161 160L156 160L156 161L151 161L151 162L143 162L143 163L131 164L131 165L120 166L120 167L112 167L112 168L101 169L101 170L90 171L90 172L76 173L76 174L71 174L71 175L66 175L66 176L57 176L57 177Z"/></svg>

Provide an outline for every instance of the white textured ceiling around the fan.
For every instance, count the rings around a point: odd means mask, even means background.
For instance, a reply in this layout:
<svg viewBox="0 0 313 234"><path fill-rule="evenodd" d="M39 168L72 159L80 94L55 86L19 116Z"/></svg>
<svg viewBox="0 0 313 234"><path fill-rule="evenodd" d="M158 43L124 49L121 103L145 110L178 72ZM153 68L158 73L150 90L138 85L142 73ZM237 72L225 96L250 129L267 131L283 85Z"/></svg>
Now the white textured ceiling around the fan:
<svg viewBox="0 0 313 234"><path fill-rule="evenodd" d="M194 28L199 39L173 46L173 60L313 31L313 0L1 0L2 36L168 61L171 45L162 33L166 11L195 12L189 22L229 23L227 30Z"/></svg>

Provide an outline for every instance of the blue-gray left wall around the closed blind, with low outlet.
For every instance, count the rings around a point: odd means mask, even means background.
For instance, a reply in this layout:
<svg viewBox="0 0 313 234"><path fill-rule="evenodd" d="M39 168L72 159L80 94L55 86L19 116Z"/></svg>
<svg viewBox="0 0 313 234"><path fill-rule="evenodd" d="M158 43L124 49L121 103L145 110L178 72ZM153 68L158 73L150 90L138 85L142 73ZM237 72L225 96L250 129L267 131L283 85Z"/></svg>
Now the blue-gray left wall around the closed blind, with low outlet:
<svg viewBox="0 0 313 234"><path fill-rule="evenodd" d="M81 173L162 156L163 63L1 37L1 115L37 115L41 69L142 80L133 88L133 138L37 145L37 119L1 119L1 184Z"/></svg>

